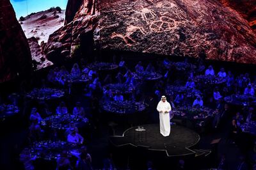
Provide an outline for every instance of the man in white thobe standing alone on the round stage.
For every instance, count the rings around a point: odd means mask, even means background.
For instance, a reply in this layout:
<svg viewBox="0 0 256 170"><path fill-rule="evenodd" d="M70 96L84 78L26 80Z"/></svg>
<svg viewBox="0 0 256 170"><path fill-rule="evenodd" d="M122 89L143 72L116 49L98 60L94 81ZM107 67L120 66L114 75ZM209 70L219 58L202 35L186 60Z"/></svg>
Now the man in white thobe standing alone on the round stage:
<svg viewBox="0 0 256 170"><path fill-rule="evenodd" d="M163 136L170 135L170 111L172 111L172 107L169 102L166 101L166 97L162 96L161 101L157 105L157 111L159 112L159 120L160 120L160 133Z"/></svg>

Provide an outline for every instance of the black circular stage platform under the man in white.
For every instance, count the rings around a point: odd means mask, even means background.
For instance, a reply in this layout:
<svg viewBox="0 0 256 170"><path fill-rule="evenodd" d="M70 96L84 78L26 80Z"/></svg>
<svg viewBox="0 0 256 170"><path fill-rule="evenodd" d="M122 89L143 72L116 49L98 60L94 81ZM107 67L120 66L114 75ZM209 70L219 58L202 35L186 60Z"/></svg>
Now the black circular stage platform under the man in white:
<svg viewBox="0 0 256 170"><path fill-rule="evenodd" d="M145 131L138 132L138 127L125 130L121 136L111 136L115 146L131 145L147 150L164 151L168 157L193 155L195 151L189 149L200 141L200 136L193 130L177 125L171 126L168 137L160 134L159 125L141 125Z"/></svg>

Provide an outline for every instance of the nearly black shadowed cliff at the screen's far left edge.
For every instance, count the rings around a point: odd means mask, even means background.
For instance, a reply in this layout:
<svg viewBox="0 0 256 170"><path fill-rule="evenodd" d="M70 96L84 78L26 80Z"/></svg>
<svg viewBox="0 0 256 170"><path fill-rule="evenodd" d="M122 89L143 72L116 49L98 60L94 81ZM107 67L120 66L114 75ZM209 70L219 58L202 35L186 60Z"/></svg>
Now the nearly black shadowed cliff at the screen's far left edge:
<svg viewBox="0 0 256 170"><path fill-rule="evenodd" d="M31 53L9 0L0 1L0 82L31 73Z"/></svg>

